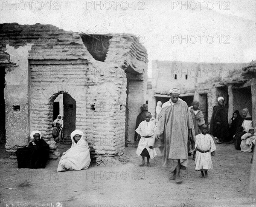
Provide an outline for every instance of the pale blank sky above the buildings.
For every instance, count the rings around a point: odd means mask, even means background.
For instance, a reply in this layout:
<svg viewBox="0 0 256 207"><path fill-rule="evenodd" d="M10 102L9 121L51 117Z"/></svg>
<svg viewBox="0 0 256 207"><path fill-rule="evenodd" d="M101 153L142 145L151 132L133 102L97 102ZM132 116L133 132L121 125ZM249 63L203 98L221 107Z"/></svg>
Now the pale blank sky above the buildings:
<svg viewBox="0 0 256 207"><path fill-rule="evenodd" d="M256 60L255 0L4 1L0 23L52 24L85 33L128 33L152 60Z"/></svg>

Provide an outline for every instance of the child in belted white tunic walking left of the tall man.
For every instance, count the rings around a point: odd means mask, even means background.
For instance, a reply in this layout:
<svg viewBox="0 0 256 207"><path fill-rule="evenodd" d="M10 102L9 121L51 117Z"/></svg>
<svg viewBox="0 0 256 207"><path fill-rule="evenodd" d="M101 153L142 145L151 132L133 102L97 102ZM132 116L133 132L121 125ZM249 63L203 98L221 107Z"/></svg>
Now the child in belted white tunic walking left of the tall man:
<svg viewBox="0 0 256 207"><path fill-rule="evenodd" d="M141 122L139 127L136 129L136 132L140 134L140 142L138 144L138 148L136 154L138 156L142 156L142 163L140 166L145 164L145 157L147 158L147 166L151 167L149 163L149 159L153 159L157 153L155 149L150 149L148 146L151 142L153 142L153 135L155 130L154 122L150 122L151 113L145 113L145 121Z"/></svg>

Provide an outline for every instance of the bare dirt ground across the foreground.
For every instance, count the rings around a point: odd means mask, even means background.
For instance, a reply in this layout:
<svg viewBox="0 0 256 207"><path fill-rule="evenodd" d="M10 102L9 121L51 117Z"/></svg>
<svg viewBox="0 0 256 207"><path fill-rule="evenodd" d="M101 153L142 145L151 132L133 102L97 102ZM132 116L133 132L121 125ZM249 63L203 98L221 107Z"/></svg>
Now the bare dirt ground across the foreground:
<svg viewBox="0 0 256 207"><path fill-rule="evenodd" d="M60 145L63 152L67 145ZM252 153L241 153L234 145L217 145L213 170L202 179L189 157L183 183L169 181L158 156L152 167L139 167L136 146L125 148L122 161L111 166L57 173L58 160L45 169L18 169L1 147L0 204L4 207L228 207L255 206L256 174L251 173ZM255 163L254 163L255 164ZM93 166L94 165L94 166ZM254 166L255 169L255 166Z"/></svg>

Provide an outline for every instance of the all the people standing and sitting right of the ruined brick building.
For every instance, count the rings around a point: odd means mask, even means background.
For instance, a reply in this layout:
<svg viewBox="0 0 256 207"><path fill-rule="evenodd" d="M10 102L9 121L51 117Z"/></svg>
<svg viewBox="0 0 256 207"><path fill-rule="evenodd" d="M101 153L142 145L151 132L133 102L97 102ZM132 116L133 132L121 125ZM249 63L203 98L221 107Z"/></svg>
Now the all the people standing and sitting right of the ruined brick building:
<svg viewBox="0 0 256 207"><path fill-rule="evenodd" d="M140 166L145 164L145 157L147 166L151 166L149 159L156 156L155 148L158 147L163 156L163 166L173 173L170 179L181 183L180 169L186 170L188 156L191 156L190 149L195 149L195 170L200 170L202 177L208 176L207 170L212 169L211 156L215 155L216 150L212 136L217 144L235 142L236 146L236 142L239 142L242 150L251 151L255 145L256 130L251 127L252 119L247 108L242 111L243 118L238 110L233 113L229 127L224 97L218 97L218 105L213 107L208 129L204 114L199 109L199 102L192 102L192 106L188 107L186 102L179 98L180 90L177 88L171 89L169 94L171 98L163 103L162 107L162 103L157 102L157 125L150 123L151 113L148 112L148 105L144 104L141 108L134 136L134 140L139 142L136 153L142 156Z"/></svg>

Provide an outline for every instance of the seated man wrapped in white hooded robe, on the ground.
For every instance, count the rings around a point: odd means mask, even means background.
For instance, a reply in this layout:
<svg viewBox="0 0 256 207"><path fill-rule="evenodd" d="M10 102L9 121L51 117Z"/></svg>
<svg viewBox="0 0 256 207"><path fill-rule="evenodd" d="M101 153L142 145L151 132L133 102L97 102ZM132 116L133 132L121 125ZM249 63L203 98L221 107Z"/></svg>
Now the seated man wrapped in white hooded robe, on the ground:
<svg viewBox="0 0 256 207"><path fill-rule="evenodd" d="M72 145L69 150L63 153L58 164L58 172L83 170L90 165L90 148L84 139L84 133L80 130L74 130L70 136Z"/></svg>

